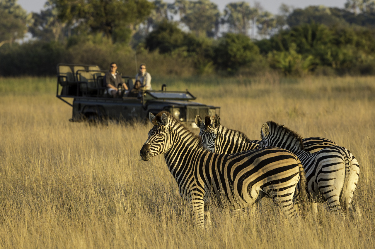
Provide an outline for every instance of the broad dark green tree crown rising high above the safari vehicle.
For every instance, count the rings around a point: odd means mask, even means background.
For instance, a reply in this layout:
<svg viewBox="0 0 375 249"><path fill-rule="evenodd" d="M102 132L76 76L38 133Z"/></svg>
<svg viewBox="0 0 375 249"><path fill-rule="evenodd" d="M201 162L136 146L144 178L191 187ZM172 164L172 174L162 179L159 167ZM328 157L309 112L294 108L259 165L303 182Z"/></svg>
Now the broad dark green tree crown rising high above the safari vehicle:
<svg viewBox="0 0 375 249"><path fill-rule="evenodd" d="M55 0L62 21L87 25L92 32L123 42L136 32L154 5L147 0Z"/></svg>

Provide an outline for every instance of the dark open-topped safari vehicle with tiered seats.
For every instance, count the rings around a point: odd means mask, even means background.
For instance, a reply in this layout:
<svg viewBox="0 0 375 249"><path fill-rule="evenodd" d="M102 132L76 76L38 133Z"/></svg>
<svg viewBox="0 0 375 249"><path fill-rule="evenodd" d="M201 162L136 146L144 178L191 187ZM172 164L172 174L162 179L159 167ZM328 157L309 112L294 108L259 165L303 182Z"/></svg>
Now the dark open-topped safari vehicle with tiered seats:
<svg viewBox="0 0 375 249"><path fill-rule="evenodd" d="M56 97L73 107L70 121L146 121L148 113L169 111L187 126L196 127L195 116L219 116L220 107L194 102L188 90L184 92L167 91L163 84L161 90L142 90L137 97L129 97L127 91L118 86L118 98L106 93L103 80L107 70L97 65L58 64ZM132 89L134 77L121 76ZM73 104L67 98L73 98Z"/></svg>

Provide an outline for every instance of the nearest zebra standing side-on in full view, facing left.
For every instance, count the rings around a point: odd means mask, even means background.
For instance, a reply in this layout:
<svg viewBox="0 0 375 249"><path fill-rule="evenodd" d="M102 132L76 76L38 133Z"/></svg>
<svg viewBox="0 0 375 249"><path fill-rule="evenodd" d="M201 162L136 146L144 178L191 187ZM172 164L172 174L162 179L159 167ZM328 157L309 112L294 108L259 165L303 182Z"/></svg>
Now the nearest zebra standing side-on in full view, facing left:
<svg viewBox="0 0 375 249"><path fill-rule="evenodd" d="M180 195L192 207L193 219L199 228L211 227L211 198L215 198L219 206L227 203L232 209L240 210L267 196L287 218L299 222L292 202L299 180L305 186L301 187L300 195L296 195L300 196L302 207L307 192L305 172L296 155L276 147L215 154L205 150L199 136L172 114L161 111L154 116L149 113L149 119L154 126L139 155L148 161L164 154Z"/></svg>

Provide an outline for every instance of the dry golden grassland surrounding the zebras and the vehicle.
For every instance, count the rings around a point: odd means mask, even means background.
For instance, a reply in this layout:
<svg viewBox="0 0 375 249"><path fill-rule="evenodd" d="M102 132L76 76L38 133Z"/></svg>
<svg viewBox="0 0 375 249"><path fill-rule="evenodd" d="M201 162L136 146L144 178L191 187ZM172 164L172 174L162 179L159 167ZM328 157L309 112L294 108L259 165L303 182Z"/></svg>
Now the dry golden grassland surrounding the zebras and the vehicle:
<svg viewBox="0 0 375 249"><path fill-rule="evenodd" d="M211 209L198 233L163 156L140 161L151 124L71 123L54 78L0 78L0 248L375 248L375 77L158 79L221 107L221 124L259 139L268 120L348 148L362 219L318 207L302 225L264 200L253 218Z"/></svg>

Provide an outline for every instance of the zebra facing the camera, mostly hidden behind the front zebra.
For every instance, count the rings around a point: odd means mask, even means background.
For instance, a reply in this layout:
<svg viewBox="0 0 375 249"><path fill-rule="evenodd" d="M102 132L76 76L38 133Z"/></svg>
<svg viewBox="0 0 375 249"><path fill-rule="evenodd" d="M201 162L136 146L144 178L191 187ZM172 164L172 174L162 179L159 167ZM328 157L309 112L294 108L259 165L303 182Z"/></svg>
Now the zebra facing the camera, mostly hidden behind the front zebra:
<svg viewBox="0 0 375 249"><path fill-rule="evenodd" d="M210 116L205 116L203 122L202 118L196 115L195 124L199 127L202 145L211 152L229 154L259 147L259 140L250 140L243 132L220 125L219 116L214 117L212 122ZM324 147L338 146L329 139L318 137L303 138L302 142L305 150L311 153L320 151Z"/></svg>

